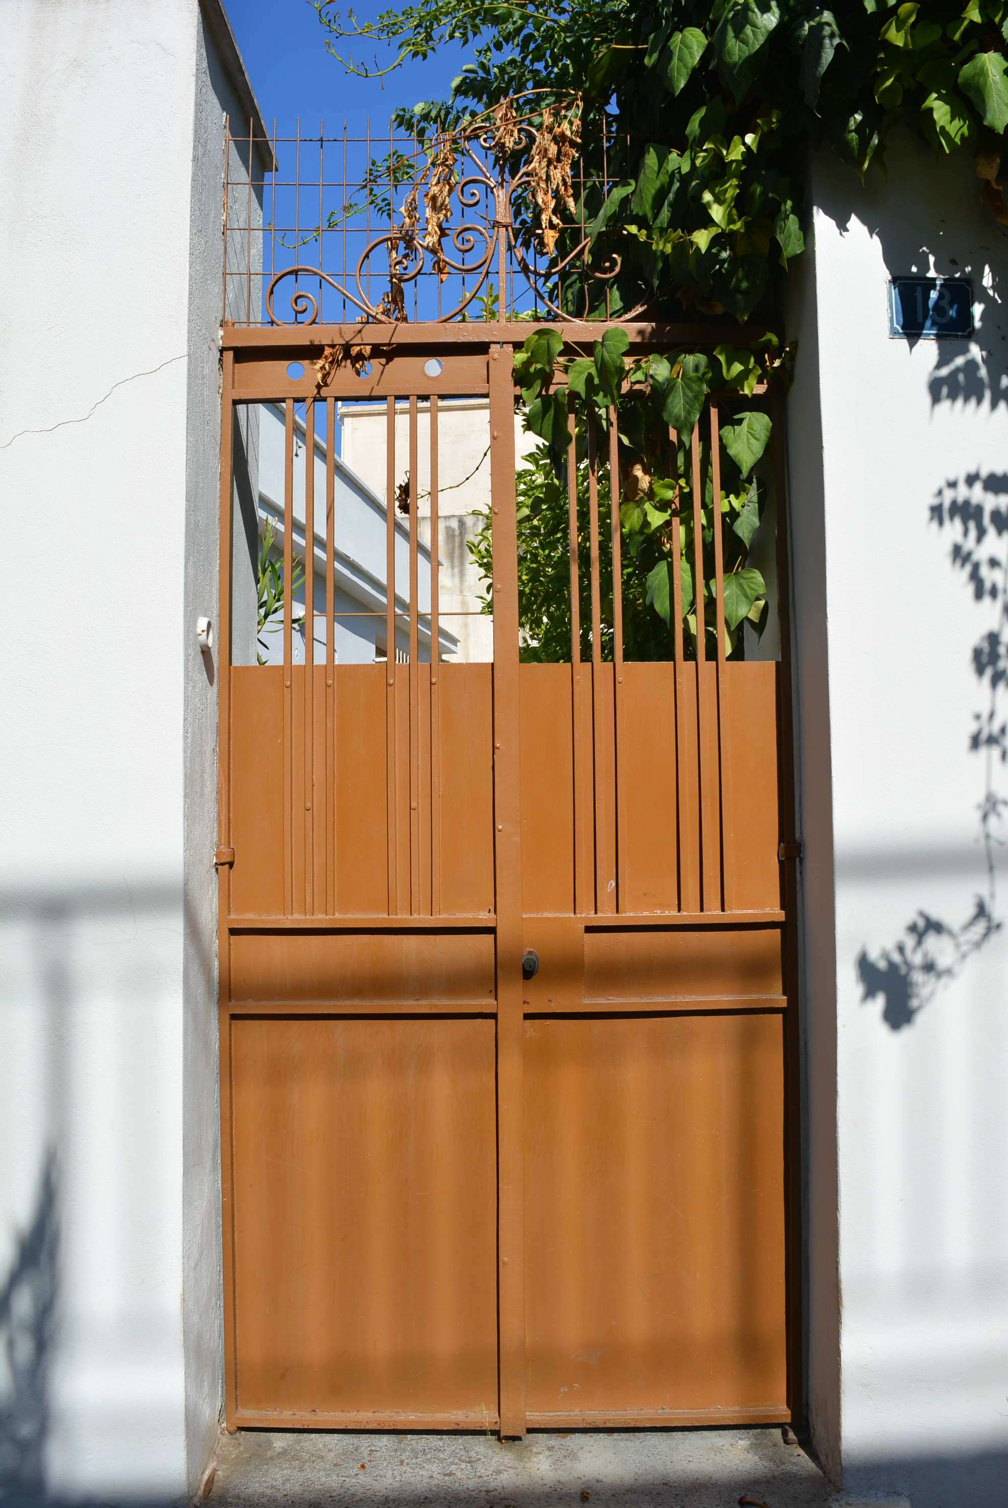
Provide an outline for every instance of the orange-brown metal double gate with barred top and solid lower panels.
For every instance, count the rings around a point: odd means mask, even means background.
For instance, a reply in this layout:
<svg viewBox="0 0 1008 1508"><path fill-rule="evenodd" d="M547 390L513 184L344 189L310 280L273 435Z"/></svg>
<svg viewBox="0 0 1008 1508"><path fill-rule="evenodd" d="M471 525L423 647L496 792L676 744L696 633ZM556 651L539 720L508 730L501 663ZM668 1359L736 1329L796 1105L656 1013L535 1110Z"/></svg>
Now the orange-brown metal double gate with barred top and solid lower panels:
<svg viewBox="0 0 1008 1508"><path fill-rule="evenodd" d="M604 477L616 434L599 424L570 659L527 662L512 347L466 333L447 345L436 327L398 327L383 354L371 336L368 371L337 366L318 385L318 348L294 348L291 332L285 345L225 332L228 1422L519 1436L788 1421L800 1339L785 656L726 661L721 635L705 661L700 624L699 662L681 633L667 662L625 661L620 593L601 602L599 541L608 532L619 552L620 531L619 483ZM439 621L439 439L444 457L459 397L489 398L484 662L460 662L462 635ZM349 517L335 406L350 398L386 415L395 590L370 664L347 664L333 632ZM324 559L303 653L288 590L282 654L266 665L235 662L229 547L235 457L244 467L249 452L238 413L260 403L285 416L285 581L299 531ZM711 436L717 448L706 413L694 463ZM777 492L780 513L780 477ZM576 541L573 487L569 501ZM786 654L783 612L782 642Z"/></svg>

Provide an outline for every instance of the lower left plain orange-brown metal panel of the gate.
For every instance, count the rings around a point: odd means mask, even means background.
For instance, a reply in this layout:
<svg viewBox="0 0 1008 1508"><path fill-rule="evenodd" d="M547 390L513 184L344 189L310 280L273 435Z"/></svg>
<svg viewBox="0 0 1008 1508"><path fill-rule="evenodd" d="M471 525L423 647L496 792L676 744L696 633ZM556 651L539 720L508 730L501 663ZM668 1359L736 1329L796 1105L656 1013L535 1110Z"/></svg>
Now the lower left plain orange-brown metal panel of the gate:
<svg viewBox="0 0 1008 1508"><path fill-rule="evenodd" d="M493 1022L232 1025L240 1422L496 1407Z"/></svg>

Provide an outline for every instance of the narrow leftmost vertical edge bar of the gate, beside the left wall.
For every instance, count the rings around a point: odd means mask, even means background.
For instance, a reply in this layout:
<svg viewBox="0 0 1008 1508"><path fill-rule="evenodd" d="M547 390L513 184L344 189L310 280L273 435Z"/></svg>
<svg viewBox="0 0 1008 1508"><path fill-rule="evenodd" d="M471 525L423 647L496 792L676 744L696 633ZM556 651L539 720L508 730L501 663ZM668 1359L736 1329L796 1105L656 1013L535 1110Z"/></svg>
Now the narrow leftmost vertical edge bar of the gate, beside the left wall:
<svg viewBox="0 0 1008 1508"><path fill-rule="evenodd" d="M220 412L220 553L217 587L217 847L231 846L231 570L234 529L234 351L223 353ZM226 855L219 855L226 858ZM217 864L217 1030L220 1044L220 1228L223 1244L225 1410L238 1407L234 1316L234 1164L231 1155L231 866Z"/></svg>

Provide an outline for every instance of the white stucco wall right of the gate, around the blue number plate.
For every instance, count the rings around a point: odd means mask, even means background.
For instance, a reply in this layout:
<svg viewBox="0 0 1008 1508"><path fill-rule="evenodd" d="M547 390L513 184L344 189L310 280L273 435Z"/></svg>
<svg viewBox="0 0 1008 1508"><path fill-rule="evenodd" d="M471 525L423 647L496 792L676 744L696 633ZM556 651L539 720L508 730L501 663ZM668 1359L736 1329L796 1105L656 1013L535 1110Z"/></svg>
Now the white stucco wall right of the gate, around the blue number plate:
<svg viewBox="0 0 1008 1508"><path fill-rule="evenodd" d="M887 164L887 184L862 187L815 160L791 288L809 1404L845 1487L993 1505L1008 1482L1008 867L994 847L988 893L979 838L1008 766L970 737L978 715L1008 716L973 661L981 641L1008 653L1008 235L967 154L936 163L905 134ZM913 271L972 277L975 341L889 338L887 279Z"/></svg>

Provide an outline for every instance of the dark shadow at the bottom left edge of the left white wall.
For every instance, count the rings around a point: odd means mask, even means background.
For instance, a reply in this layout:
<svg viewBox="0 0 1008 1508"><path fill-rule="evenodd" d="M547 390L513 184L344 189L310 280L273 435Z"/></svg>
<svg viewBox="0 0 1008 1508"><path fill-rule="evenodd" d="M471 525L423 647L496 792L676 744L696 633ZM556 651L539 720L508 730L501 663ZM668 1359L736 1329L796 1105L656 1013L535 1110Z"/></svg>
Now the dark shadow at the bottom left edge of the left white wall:
<svg viewBox="0 0 1008 1508"><path fill-rule="evenodd" d="M5 1392L0 1404L0 1502L45 1499L50 1339L56 1309L56 1155L42 1170L32 1224L0 1289Z"/></svg>

